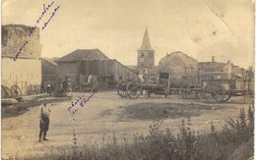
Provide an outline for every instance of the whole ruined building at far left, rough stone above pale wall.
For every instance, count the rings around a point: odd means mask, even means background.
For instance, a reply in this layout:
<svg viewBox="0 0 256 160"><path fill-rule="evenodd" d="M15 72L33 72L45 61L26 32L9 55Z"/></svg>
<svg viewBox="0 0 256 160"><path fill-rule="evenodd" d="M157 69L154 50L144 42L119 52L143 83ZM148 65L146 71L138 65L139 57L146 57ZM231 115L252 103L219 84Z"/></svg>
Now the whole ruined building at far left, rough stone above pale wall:
<svg viewBox="0 0 256 160"><path fill-rule="evenodd" d="M29 37L28 26L2 26L2 85L11 88L18 85L23 94L28 94L30 85L41 84L41 44L39 28L35 28ZM13 58L22 49L18 59Z"/></svg>

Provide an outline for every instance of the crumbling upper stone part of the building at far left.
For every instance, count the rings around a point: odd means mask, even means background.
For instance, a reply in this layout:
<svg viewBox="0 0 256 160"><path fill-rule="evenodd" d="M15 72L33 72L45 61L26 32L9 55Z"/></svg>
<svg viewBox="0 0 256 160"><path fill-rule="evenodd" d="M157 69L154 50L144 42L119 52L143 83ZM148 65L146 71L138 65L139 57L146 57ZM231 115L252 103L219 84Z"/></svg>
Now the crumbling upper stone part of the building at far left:
<svg viewBox="0 0 256 160"><path fill-rule="evenodd" d="M30 27L23 25L2 26L2 56L14 57L28 40L19 57L39 58L41 56L39 28L34 29L31 37L29 30Z"/></svg>

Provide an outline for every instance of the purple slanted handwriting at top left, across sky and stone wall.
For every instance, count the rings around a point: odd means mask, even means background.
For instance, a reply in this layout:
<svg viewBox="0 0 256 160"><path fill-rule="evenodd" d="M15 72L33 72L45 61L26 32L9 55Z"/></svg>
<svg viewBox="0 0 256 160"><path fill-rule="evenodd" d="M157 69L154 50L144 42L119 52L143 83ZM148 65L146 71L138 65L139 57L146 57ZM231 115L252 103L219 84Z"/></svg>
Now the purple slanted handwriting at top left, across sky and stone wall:
<svg viewBox="0 0 256 160"><path fill-rule="evenodd" d="M41 13L41 15L39 16L39 18L36 20L35 24L33 27L30 27L29 29L29 37L32 36L32 33L35 29L35 27L37 27L37 25L40 23L41 19L44 17L44 15L47 13L47 11L50 9L50 7L54 4L54 1L52 1L50 4L48 5L45 5L43 4L43 11ZM54 11L52 13L50 13L50 18L48 19L47 22L45 22L43 24L43 27L41 27L41 30L43 30L47 25L48 23L50 22L50 20L52 19L52 17L55 15L55 13L57 12L57 10L60 8L60 6L57 6L57 8L54 9ZM13 57L13 61L15 62L17 60L17 58L19 57L19 55L22 53L22 51L24 50L25 46L28 45L29 41L27 40L24 45L20 48L20 50L18 51L18 53L15 55L15 57Z"/></svg>

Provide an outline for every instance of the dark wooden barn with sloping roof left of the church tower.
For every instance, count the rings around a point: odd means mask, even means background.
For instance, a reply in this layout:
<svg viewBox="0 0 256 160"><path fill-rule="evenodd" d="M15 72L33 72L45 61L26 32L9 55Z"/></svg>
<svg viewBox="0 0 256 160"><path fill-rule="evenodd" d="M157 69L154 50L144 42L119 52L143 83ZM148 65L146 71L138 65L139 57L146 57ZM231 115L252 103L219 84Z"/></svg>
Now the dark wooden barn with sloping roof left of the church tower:
<svg viewBox="0 0 256 160"><path fill-rule="evenodd" d="M58 78L69 77L73 88L87 82L90 75L110 79L110 82L137 77L136 72L116 60L109 59L99 49L78 49L55 62Z"/></svg>

